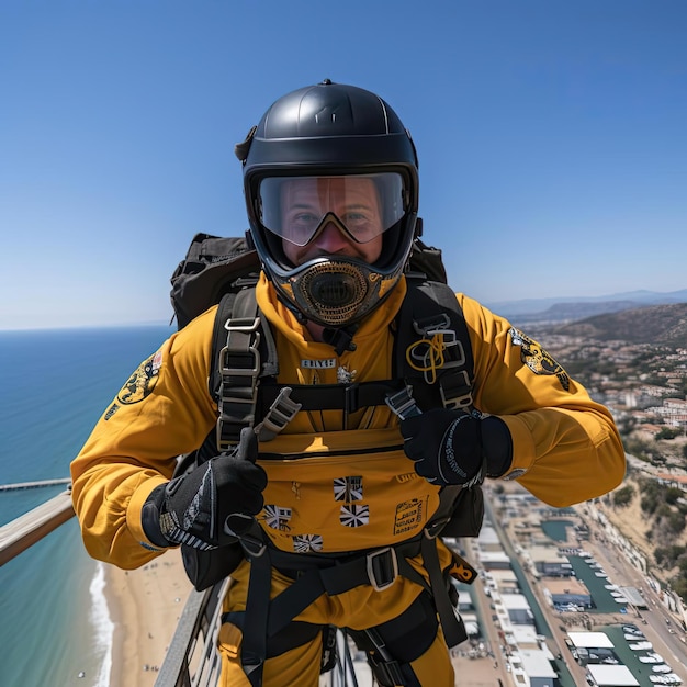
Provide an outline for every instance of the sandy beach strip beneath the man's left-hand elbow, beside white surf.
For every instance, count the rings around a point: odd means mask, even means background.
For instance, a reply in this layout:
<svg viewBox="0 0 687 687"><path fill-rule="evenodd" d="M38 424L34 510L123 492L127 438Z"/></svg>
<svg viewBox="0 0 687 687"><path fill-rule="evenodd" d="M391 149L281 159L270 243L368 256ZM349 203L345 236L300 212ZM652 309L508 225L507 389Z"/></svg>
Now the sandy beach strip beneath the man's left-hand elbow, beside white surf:
<svg viewBox="0 0 687 687"><path fill-rule="evenodd" d="M191 590L181 554L171 550L135 571L106 568L114 622L111 687L153 687Z"/></svg>

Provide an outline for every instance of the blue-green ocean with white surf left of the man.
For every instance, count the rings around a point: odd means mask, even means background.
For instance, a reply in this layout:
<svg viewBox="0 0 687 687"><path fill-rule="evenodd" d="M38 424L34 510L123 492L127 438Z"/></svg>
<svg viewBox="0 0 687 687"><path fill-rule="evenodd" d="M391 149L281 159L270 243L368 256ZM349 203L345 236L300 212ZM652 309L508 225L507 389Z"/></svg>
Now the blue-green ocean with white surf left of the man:
<svg viewBox="0 0 687 687"><path fill-rule="evenodd" d="M166 326L0 331L0 483L69 477L69 463ZM0 525L65 486L0 492ZM76 518L0 567L0 685L106 687L104 567Z"/></svg>

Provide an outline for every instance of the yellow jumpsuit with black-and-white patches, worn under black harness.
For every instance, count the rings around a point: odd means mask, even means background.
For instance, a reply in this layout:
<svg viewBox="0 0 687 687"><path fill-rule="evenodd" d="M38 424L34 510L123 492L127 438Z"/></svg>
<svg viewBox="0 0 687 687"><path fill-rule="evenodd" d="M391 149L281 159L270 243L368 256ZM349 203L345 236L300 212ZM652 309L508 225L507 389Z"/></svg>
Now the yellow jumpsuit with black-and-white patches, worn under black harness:
<svg viewBox="0 0 687 687"><path fill-rule="evenodd" d="M257 300L274 334L282 384L335 384L391 376L390 326L406 285L364 319L354 351L337 356L314 342L305 327L278 301L261 278ZM608 410L534 341L475 301L457 294L474 356L474 403L498 415L513 437L517 478L534 496L562 507L616 487L624 475L624 453ZM199 447L216 423L207 391L211 308L161 348L126 382L71 465L74 504L90 555L123 568L160 555L142 528L142 507L169 480L171 457ZM398 420L386 406L342 412L302 412L270 442L260 443L267 471L264 509L258 520L284 551L350 552L382 548L421 532L438 505L438 488L415 474L403 453ZM297 460L294 460L297 459ZM450 554L439 547L442 567ZM410 561L426 574L421 559ZM245 608L249 563L232 575L224 609ZM290 584L277 571L272 596ZM383 590L359 586L323 595L297 620L352 629L379 626L404 611L420 587L398 577ZM248 685L240 667L240 631L224 623L219 634L222 685ZM320 643L316 639L264 666L264 685L317 685ZM423 685L453 685L441 630L430 649L412 663Z"/></svg>

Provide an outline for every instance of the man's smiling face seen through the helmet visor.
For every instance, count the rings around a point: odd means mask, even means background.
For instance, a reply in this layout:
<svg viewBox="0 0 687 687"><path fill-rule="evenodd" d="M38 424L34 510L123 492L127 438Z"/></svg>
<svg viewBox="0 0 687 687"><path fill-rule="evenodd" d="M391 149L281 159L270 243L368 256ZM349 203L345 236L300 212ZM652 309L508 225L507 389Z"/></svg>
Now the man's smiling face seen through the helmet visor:
<svg viewBox="0 0 687 687"><path fill-rule="evenodd" d="M281 207L282 246L294 264L323 256L358 258L371 264L382 252L384 227L372 179L289 180L282 185ZM323 223L327 213L336 218Z"/></svg>

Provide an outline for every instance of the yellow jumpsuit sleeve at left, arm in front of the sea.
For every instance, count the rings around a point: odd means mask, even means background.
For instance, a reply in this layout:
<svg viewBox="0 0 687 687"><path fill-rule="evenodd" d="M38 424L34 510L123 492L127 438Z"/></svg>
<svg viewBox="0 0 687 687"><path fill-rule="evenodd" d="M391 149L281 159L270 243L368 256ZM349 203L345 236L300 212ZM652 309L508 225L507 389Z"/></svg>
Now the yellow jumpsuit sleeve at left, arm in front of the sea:
<svg viewBox="0 0 687 687"><path fill-rule="evenodd" d="M135 568L160 551L140 525L143 504L169 480L176 457L216 421L207 390L211 308L140 363L71 463L72 500L91 556Z"/></svg>

